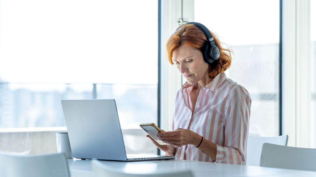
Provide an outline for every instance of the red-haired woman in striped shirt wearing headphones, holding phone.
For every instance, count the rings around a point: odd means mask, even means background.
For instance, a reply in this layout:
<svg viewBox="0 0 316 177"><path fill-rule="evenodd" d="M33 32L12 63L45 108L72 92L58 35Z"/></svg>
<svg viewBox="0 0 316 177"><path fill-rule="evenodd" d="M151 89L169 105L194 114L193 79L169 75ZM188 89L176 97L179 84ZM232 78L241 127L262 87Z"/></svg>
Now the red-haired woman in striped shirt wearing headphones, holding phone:
<svg viewBox="0 0 316 177"><path fill-rule="evenodd" d="M243 86L226 77L231 50L209 32L191 22L168 39L168 60L187 82L177 92L173 131L157 135L170 145L147 137L176 159L245 164L251 98Z"/></svg>

